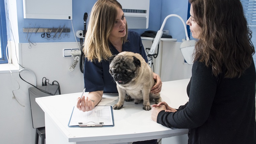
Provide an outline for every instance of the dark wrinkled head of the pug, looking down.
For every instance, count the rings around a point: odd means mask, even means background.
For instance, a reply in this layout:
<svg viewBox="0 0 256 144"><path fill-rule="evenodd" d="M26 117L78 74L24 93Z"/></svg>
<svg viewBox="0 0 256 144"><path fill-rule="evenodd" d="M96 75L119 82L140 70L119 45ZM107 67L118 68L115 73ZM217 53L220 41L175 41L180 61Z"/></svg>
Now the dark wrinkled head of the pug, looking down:
<svg viewBox="0 0 256 144"><path fill-rule="evenodd" d="M137 76L140 61L134 56L114 55L109 58L109 73L114 80L124 85Z"/></svg>

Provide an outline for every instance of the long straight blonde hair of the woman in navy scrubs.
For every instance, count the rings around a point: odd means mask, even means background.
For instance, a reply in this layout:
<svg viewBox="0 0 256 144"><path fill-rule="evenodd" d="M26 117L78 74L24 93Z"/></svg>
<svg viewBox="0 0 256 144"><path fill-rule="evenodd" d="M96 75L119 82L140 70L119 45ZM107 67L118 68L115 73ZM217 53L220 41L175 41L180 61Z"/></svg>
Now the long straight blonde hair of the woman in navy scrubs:
<svg viewBox="0 0 256 144"><path fill-rule="evenodd" d="M113 30L118 9L122 6L116 0L98 0L91 11L87 32L85 35L84 54L88 61L108 60L113 54L109 49L112 43L109 35ZM122 42L127 41L128 28Z"/></svg>

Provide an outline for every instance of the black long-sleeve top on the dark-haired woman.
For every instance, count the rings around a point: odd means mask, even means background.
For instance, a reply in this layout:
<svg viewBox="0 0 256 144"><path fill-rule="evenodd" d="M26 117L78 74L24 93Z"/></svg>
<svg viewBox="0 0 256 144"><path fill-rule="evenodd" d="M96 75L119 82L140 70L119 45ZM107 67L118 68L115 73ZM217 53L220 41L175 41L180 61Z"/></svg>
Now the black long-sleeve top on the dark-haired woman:
<svg viewBox="0 0 256 144"><path fill-rule="evenodd" d="M196 61L189 101L175 113L161 111L157 123L189 129L189 144L256 144L255 79L253 61L239 78L215 77L211 67Z"/></svg>

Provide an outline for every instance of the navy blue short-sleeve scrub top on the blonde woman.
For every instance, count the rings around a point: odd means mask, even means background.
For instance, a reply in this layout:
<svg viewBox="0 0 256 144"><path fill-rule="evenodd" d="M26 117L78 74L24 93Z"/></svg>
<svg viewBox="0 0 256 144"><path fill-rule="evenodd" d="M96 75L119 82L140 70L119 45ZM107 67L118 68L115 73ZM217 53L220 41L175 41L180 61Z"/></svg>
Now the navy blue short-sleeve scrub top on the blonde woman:
<svg viewBox="0 0 256 144"><path fill-rule="evenodd" d="M119 54L114 46L109 47L113 55ZM127 42L123 44L122 51L140 54L148 63L145 49L142 45L140 35L134 31L128 31ZM86 92L103 90L103 93L118 93L117 84L109 73L109 61L102 60L90 62L85 59L84 82Z"/></svg>

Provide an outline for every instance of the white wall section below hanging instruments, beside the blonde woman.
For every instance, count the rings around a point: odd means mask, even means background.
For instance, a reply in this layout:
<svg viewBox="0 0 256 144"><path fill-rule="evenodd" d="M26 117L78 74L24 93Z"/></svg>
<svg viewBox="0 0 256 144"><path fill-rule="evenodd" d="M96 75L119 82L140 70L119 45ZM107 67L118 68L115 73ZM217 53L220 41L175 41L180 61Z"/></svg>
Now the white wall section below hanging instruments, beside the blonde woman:
<svg viewBox="0 0 256 144"><path fill-rule="evenodd" d="M83 91L84 78L79 69L79 62L73 71L69 67L73 64L73 57L63 57L63 49L75 49L75 42L67 43L37 43L32 49L27 43L22 47L22 66L36 73L38 85L46 77L50 82L56 80L60 83L61 93Z"/></svg>

